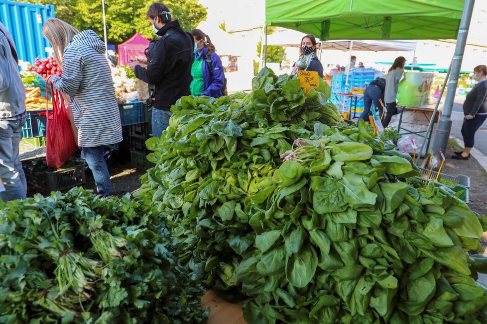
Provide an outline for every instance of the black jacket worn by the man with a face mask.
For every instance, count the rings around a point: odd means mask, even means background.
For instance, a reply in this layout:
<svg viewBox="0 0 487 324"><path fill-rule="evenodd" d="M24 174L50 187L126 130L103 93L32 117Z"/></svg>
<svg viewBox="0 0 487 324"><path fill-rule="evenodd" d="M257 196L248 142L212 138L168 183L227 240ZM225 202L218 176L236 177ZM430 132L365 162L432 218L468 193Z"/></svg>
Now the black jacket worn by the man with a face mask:
<svg viewBox="0 0 487 324"><path fill-rule="evenodd" d="M154 85L152 107L169 110L176 100L190 95L194 39L177 20L168 22L149 43L147 69L135 67L135 77Z"/></svg>

